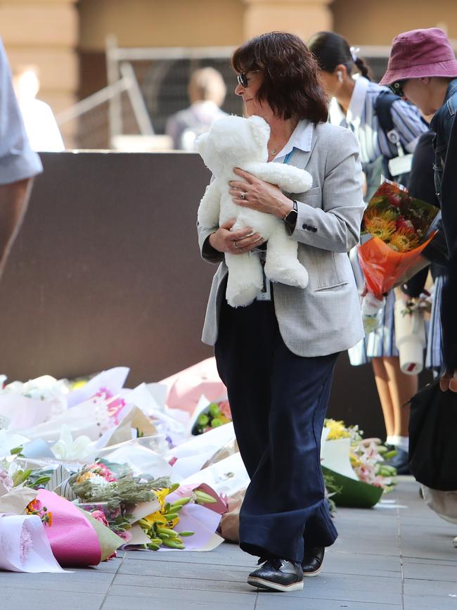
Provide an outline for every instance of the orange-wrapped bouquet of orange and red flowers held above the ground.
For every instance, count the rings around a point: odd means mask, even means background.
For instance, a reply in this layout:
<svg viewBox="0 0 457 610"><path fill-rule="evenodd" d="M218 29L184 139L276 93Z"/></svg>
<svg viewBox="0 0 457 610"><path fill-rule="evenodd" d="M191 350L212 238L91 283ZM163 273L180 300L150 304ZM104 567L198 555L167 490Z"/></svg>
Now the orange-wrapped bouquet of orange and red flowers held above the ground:
<svg viewBox="0 0 457 610"><path fill-rule="evenodd" d="M435 233L428 235L438 208L411 197L408 190L385 180L363 215L359 262L368 288L362 304L366 331L377 325L382 295L411 269ZM369 318L372 318L371 320Z"/></svg>

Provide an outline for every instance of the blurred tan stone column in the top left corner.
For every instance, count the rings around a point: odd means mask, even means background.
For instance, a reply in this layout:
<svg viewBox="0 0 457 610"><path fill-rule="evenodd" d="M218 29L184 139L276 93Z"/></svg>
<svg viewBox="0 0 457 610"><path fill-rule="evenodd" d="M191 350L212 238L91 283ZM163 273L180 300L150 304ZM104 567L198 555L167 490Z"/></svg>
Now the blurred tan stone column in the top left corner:
<svg viewBox="0 0 457 610"><path fill-rule="evenodd" d="M0 4L1 37L11 68L33 63L40 70L38 97L56 114L77 101L77 0L6 0ZM63 126L66 146L72 128Z"/></svg>

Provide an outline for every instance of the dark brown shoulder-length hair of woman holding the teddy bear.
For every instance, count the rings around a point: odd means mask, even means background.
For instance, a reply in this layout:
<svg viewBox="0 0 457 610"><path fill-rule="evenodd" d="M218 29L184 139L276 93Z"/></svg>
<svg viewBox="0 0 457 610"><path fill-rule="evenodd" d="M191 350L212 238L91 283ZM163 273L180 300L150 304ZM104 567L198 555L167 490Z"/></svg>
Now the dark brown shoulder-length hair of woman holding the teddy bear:
<svg viewBox="0 0 457 610"><path fill-rule="evenodd" d="M328 117L328 101L319 81L320 69L306 44L295 34L269 32L245 42L233 53L233 70L264 74L257 99L275 115L318 123Z"/></svg>

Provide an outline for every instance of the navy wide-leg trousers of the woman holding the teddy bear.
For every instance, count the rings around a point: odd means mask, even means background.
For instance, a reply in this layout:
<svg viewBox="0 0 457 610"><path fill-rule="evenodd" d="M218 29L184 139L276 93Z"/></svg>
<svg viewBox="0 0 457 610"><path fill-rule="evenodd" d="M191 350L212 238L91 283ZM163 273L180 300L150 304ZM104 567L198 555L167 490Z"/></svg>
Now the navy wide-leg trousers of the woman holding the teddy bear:
<svg viewBox="0 0 457 610"><path fill-rule="evenodd" d="M337 531L324 499L320 450L338 354L300 357L283 342L273 301L221 306L215 345L241 457L250 476L240 547L302 561Z"/></svg>

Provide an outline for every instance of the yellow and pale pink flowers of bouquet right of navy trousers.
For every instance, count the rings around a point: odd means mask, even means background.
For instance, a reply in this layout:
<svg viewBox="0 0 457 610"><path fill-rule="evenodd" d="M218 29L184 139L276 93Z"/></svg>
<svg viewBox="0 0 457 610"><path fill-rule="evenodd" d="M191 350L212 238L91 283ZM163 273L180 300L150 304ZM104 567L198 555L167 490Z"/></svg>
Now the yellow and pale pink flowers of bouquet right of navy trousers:
<svg viewBox="0 0 457 610"><path fill-rule="evenodd" d="M380 487L385 492L394 487L397 470L388 464L396 454L394 450L388 450L379 438L363 438L359 426L346 426L344 421L335 419L326 419L324 426L330 430L327 440L350 439L349 459L360 481Z"/></svg>

